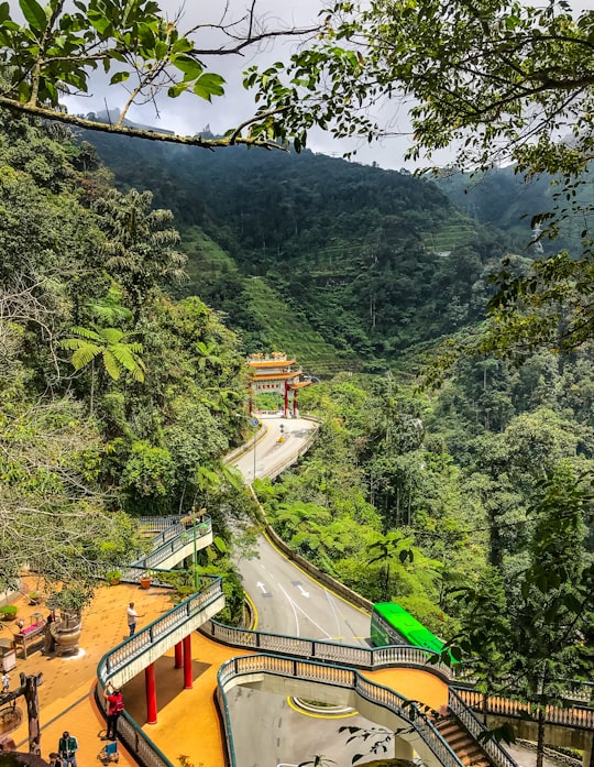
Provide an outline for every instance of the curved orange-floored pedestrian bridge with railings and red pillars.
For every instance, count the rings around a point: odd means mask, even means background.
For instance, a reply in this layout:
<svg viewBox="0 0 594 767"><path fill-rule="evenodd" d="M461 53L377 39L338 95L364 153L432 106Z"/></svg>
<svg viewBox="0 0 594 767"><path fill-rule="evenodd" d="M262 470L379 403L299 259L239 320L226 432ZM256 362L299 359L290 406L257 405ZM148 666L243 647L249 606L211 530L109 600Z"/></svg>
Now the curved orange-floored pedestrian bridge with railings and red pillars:
<svg viewBox="0 0 594 767"><path fill-rule="evenodd" d="M191 664L188 643L190 634L201 627L209 636L198 637L197 657L206 662L213 654L212 645L218 648L217 662L207 664L209 668L200 678L204 695L200 730L209 733L209 749L213 747L215 753L208 764L212 767L224 766L226 752L228 764L232 767L237 764L227 692L238 684L353 706L391 730L405 727L408 731L408 735L403 733L397 739L399 756L411 755L408 741L415 738L415 749L429 767L463 767L462 757L439 730L439 713L443 715L448 711L475 739L479 738L485 727L471 708L476 701L469 699L476 693L468 686L460 687L450 668L428 665L426 651L408 646L351 647L231 628L210 620L223 604L221 579L212 578L207 589L176 605L101 659L98 667L100 689L108 681L124 686L142 671L145 673L146 717L134 721L125 714L120 727L123 742L142 764L173 767L177 754L165 754L160 748L154 666L163 654L175 648L175 665L184 667L185 686L191 687L191 673L186 672ZM196 657L196 647L194 655ZM219 714L212 706L213 698L222 712L224 736L219 727ZM419 705L410 701L419 701ZM103 705L100 694L97 702ZM436 715L427 714L424 705ZM510 710L507 716L522 716L520 709L517 704L515 712ZM152 725L151 737L146 728L142 728L145 722ZM551 708L547 712L547 723L578 733L584 757L590 758L593 709L579 704L569 709ZM217 733L218 739L215 738ZM483 748L496 767L516 767L496 742L487 741Z"/></svg>

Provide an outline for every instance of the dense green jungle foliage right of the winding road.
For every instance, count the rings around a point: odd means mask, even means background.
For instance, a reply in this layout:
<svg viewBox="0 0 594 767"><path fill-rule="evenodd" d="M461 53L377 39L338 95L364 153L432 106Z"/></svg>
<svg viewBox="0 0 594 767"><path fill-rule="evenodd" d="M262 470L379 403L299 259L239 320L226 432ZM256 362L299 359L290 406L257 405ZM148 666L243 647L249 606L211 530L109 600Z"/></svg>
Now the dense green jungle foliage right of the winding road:
<svg viewBox="0 0 594 767"><path fill-rule="evenodd" d="M439 396L336 376L302 393L314 449L257 493L299 554L460 640L491 689L513 673L541 701L594 669L593 375L587 349L464 363Z"/></svg>

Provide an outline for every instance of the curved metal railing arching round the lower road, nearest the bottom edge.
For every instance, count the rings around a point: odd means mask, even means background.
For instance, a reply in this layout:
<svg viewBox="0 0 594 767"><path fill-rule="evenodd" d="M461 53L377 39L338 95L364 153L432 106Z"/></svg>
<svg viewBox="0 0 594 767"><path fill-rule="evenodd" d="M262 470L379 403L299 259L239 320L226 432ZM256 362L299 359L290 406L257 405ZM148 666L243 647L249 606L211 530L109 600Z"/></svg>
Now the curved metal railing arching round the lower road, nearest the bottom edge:
<svg viewBox="0 0 594 767"><path fill-rule="evenodd" d="M232 767L235 767L237 761L226 688L233 679L253 673L270 673L353 690L358 695L392 711L396 716L407 722L443 767L463 767L462 760L442 737L435 724L415 703L409 702L394 690L365 679L354 669L340 666L324 666L311 660L298 660L270 655L249 655L233 658L223 664L217 675L218 700L221 710L224 711L223 722L227 731L228 758Z"/></svg>

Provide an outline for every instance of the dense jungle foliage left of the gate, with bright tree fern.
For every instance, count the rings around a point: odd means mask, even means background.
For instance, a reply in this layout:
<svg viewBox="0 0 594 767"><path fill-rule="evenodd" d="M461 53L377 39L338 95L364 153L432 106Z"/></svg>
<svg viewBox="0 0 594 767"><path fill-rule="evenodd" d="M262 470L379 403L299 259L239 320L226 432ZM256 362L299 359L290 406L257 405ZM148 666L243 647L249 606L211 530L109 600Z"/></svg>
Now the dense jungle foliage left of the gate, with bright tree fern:
<svg viewBox="0 0 594 767"><path fill-rule="evenodd" d="M0 591L23 561L90 588L135 558L138 515L212 506L224 540L244 361L202 300L165 292L186 262L170 211L6 112L0 166Z"/></svg>

